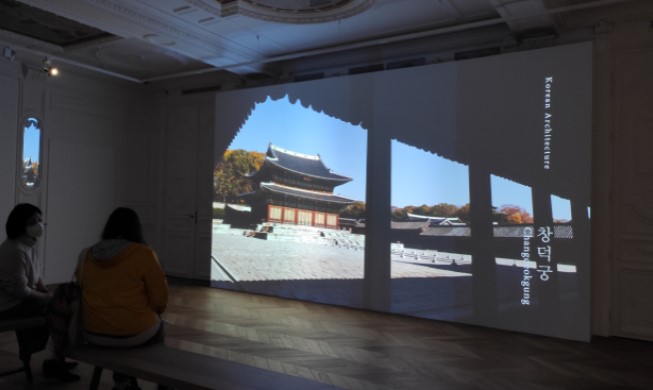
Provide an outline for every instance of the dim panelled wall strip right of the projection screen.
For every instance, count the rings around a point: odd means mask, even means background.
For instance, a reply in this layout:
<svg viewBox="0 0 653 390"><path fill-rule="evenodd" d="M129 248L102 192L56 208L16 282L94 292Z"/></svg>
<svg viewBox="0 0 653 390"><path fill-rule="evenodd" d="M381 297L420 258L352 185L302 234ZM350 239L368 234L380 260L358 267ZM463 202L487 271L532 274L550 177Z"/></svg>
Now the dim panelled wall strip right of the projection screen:
<svg viewBox="0 0 653 390"><path fill-rule="evenodd" d="M653 341L653 34L595 39L593 332Z"/></svg>

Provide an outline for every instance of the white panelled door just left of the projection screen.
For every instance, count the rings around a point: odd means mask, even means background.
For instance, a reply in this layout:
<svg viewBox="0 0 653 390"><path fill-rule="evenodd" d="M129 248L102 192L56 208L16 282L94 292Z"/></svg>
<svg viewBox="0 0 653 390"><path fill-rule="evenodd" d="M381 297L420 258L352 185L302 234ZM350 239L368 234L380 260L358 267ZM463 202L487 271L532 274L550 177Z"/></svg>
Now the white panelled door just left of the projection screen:
<svg viewBox="0 0 653 390"><path fill-rule="evenodd" d="M212 105L186 104L166 116L163 250L166 273L210 278Z"/></svg>

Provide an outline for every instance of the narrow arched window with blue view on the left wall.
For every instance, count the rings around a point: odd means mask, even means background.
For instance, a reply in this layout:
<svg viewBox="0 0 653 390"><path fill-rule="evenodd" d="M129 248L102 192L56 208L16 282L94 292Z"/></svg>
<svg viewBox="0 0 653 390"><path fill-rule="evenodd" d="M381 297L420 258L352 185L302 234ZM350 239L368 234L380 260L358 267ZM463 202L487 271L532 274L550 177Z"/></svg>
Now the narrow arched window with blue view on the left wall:
<svg viewBox="0 0 653 390"><path fill-rule="evenodd" d="M20 181L27 189L39 186L41 179L41 122L35 117L27 117L23 122L23 148L20 160Z"/></svg>

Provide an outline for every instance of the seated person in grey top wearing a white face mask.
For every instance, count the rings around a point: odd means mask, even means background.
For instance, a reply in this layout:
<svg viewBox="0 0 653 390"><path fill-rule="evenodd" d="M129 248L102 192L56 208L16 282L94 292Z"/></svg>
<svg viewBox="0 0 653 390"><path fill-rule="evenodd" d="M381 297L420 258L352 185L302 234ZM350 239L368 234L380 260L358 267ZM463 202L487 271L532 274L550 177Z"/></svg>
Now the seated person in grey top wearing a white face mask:
<svg viewBox="0 0 653 390"><path fill-rule="evenodd" d="M38 240L43 235L41 210L21 203L9 213L7 238L0 244L0 319L45 316L52 294L43 283L38 258ZM47 325L16 330L21 359L45 349L50 332ZM63 382L79 380L68 370L74 362L56 358L43 362L43 374Z"/></svg>

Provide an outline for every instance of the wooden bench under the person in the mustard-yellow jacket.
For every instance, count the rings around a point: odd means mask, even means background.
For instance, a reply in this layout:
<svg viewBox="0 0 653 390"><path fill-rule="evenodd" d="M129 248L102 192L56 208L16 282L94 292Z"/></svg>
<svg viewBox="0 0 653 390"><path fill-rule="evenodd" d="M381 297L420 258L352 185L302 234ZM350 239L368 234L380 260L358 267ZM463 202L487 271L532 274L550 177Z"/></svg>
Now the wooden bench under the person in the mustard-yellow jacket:
<svg viewBox="0 0 653 390"><path fill-rule="evenodd" d="M82 345L68 356L95 366L90 389L97 390L102 370L117 371L180 390L285 389L321 390L335 387L163 344L135 348Z"/></svg>

